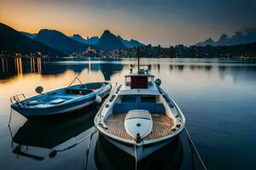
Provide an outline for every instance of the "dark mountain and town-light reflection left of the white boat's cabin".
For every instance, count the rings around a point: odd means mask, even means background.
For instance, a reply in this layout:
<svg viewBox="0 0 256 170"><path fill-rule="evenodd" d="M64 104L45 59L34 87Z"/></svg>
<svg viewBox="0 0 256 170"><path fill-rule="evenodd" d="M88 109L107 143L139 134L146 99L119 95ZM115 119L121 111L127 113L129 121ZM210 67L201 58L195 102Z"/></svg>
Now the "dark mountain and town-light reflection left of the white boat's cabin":
<svg viewBox="0 0 256 170"><path fill-rule="evenodd" d="M109 59L103 60L99 63L90 62L90 59L67 59L66 63L59 63L59 61L63 59L50 58L0 59L2 61L0 64L0 78L22 77L24 74L28 73L38 73L41 75L60 75L67 70L80 73L87 69L88 71L102 71L105 80L108 81L115 72L122 71L124 67L123 64L111 64L109 62L104 62L109 61ZM68 61L75 62L70 63Z"/></svg>

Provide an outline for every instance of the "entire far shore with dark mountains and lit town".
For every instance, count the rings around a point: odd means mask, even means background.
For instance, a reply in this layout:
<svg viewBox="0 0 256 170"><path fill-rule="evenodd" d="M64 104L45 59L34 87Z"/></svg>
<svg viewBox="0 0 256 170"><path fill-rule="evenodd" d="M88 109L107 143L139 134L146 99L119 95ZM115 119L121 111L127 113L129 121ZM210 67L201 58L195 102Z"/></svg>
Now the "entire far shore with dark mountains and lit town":
<svg viewBox="0 0 256 170"><path fill-rule="evenodd" d="M233 37L222 35L192 46L152 46L137 40L125 40L106 30L101 37L67 37L60 31L42 29L36 34L16 31L0 23L0 57L98 57L133 58L137 48L144 58L219 58L256 59L256 32Z"/></svg>

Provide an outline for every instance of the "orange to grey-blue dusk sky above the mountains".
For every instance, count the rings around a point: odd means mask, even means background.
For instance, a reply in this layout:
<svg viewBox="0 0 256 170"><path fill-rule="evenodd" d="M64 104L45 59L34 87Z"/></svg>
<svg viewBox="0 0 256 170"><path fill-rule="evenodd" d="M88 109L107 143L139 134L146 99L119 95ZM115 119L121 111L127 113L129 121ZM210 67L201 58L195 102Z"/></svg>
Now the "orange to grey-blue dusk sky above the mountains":
<svg viewBox="0 0 256 170"><path fill-rule="evenodd" d="M168 47L256 30L256 0L0 0L0 22L18 31L55 29Z"/></svg>

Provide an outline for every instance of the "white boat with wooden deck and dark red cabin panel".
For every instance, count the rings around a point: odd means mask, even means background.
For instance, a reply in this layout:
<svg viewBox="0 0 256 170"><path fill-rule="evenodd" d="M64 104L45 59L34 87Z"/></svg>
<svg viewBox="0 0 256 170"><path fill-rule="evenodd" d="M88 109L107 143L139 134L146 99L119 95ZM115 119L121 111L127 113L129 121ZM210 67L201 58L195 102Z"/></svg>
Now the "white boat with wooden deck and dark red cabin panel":
<svg viewBox="0 0 256 170"><path fill-rule="evenodd" d="M160 79L148 69L125 76L125 83L109 95L95 117L95 126L110 143L137 161L177 138L185 117Z"/></svg>

